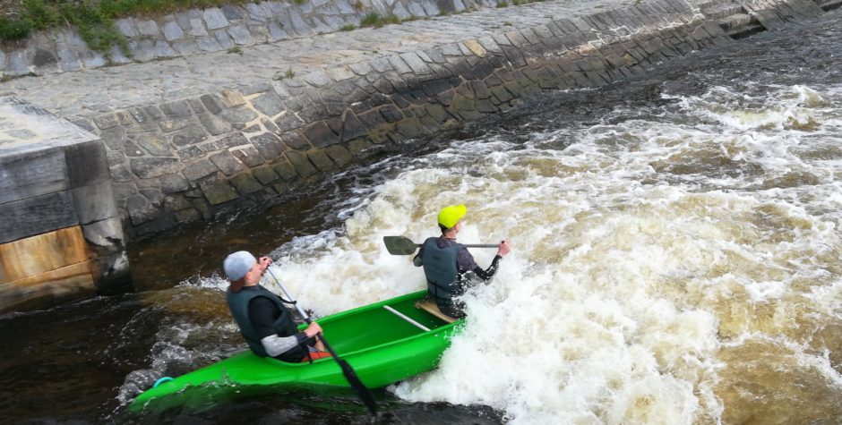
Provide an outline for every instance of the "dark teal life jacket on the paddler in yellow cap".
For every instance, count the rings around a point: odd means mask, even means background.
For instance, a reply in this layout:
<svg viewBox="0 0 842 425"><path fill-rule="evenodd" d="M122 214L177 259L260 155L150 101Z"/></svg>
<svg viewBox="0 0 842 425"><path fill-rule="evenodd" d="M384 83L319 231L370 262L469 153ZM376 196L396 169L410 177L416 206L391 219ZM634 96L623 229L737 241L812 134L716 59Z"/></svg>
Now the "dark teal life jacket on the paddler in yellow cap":
<svg viewBox="0 0 842 425"><path fill-rule="evenodd" d="M421 261L427 278L427 293L435 299L436 304L451 305L454 297L465 292L460 285L457 266L459 251L464 245L456 243L439 248L436 242L438 239L433 237L424 241L424 256L421 257Z"/></svg>

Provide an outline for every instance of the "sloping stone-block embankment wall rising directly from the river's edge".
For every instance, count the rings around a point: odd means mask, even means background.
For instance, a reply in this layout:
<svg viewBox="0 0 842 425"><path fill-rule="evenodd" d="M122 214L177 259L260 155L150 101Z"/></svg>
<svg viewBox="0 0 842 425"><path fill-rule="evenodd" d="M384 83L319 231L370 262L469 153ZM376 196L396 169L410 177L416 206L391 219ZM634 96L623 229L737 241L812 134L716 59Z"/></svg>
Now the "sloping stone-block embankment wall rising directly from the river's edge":
<svg viewBox="0 0 842 425"><path fill-rule="evenodd" d="M760 18L752 22L774 25L795 13L821 13L807 0L728 4L656 0L550 19L76 123L106 143L127 233L157 232L278 198L375 153L498 114L546 90L623 81L694 50L733 42L726 30L735 35L740 27L726 21L735 14L752 13ZM708 16L705 8L732 12Z"/></svg>

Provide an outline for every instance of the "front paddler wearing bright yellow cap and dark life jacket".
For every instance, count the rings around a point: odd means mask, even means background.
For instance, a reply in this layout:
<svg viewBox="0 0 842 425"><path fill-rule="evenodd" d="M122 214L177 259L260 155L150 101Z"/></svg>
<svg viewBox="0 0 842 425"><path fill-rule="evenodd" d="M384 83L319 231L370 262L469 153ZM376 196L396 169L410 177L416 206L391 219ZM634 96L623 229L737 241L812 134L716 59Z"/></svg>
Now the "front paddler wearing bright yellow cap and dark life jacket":
<svg viewBox="0 0 842 425"><path fill-rule="evenodd" d="M508 240L500 242L491 266L485 270L477 266L468 248L456 242L456 234L459 234L462 227L462 217L465 217L467 212L468 208L461 204L442 208L438 217L442 235L428 238L412 260L416 267L424 267L427 292L435 300L439 310L454 319L465 317L464 303L455 298L477 283L473 276L488 285L497 273L500 259L510 250Z"/></svg>

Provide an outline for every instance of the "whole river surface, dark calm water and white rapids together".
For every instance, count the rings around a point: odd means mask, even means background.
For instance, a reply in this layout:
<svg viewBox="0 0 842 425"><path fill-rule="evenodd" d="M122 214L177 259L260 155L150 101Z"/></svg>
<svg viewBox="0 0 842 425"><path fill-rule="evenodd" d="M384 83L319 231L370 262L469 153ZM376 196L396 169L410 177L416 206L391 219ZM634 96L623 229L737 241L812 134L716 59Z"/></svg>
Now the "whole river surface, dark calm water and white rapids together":
<svg viewBox="0 0 842 425"><path fill-rule="evenodd" d="M124 404L244 348L219 264L278 259L316 316L424 287L382 236L509 238L437 370L379 423L842 421L842 13L554 93L259 214L144 242L139 290L0 318L0 422L373 421L278 390L204 412ZM474 250L480 265L494 251Z"/></svg>

